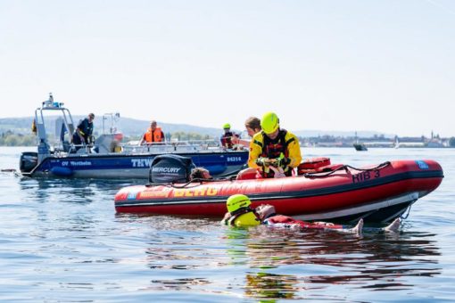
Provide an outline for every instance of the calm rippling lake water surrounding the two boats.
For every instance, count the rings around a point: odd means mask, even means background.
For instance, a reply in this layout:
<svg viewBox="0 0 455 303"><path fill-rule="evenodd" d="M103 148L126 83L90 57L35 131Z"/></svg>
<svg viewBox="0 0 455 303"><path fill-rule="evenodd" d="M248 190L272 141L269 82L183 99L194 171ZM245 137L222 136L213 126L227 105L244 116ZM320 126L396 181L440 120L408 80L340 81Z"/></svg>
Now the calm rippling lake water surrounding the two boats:
<svg viewBox="0 0 455 303"><path fill-rule="evenodd" d="M0 147L0 168L21 151ZM0 173L2 301L453 301L455 149L303 149L352 166L432 159L443 184L400 234L233 229L210 218L116 215L128 180ZM140 184L136 182L136 184Z"/></svg>

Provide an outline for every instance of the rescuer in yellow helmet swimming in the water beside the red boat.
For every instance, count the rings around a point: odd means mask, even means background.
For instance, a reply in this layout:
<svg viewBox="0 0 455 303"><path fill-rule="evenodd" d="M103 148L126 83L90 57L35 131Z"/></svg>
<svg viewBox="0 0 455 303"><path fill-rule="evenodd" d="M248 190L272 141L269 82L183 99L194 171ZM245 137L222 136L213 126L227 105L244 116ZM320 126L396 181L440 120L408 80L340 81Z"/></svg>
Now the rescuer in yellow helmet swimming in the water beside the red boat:
<svg viewBox="0 0 455 303"><path fill-rule="evenodd" d="M234 194L227 198L227 213L222 223L231 226L261 225L261 219L251 209L252 201L244 194Z"/></svg>

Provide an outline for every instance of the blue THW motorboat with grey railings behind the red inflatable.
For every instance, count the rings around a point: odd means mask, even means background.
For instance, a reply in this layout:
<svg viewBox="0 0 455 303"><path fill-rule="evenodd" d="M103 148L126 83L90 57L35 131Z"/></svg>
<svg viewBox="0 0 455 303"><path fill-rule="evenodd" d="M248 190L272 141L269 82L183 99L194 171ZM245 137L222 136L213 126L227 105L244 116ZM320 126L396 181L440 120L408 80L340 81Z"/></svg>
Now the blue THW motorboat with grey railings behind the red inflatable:
<svg viewBox="0 0 455 303"><path fill-rule="evenodd" d="M54 134L48 129L50 119L46 115L58 116L52 119ZM147 179L153 158L167 153L191 158L197 167L207 168L212 176L229 176L244 168L248 159L248 151L226 150L216 141L141 146L122 143L122 135L115 127L99 135L94 143L75 146L70 143L75 130L70 111L62 102L54 102L52 94L35 111L34 124L37 151L22 152L20 168L23 176Z"/></svg>

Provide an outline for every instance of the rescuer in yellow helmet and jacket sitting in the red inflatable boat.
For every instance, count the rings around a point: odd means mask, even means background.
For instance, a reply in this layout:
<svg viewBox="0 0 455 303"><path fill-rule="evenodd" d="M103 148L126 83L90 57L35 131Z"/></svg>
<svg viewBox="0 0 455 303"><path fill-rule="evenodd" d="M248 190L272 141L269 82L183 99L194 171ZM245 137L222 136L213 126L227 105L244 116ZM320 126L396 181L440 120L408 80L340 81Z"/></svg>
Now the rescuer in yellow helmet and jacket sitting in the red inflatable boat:
<svg viewBox="0 0 455 303"><path fill-rule="evenodd" d="M285 176L293 175L293 168L302 161L297 137L279 127L274 112L267 112L261 119L261 132L252 137L248 166L260 168L262 177L274 177L276 171Z"/></svg>

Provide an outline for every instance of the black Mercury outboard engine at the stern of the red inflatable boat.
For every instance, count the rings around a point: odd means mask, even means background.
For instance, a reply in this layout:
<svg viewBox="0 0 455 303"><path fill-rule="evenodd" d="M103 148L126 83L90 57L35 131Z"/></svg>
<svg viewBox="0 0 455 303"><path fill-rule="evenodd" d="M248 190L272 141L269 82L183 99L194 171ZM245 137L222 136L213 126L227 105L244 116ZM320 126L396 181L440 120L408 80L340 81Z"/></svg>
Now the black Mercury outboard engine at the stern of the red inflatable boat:
<svg viewBox="0 0 455 303"><path fill-rule="evenodd" d="M156 156L150 166L148 181L157 183L186 183L190 181L193 160L174 154Z"/></svg>

